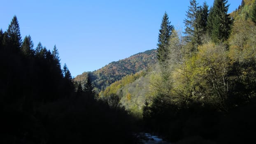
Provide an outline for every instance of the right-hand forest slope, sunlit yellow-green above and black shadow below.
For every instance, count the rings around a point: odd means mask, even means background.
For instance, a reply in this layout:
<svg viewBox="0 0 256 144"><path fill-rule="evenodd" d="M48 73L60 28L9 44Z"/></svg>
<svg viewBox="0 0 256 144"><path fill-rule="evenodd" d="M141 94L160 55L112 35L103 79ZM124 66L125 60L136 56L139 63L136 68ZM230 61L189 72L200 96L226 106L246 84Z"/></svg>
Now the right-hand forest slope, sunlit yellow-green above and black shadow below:
<svg viewBox="0 0 256 144"><path fill-rule="evenodd" d="M158 63L100 92L143 117L145 130L178 143L244 143L256 125L256 2L242 0L228 14L227 0L190 0L185 31L165 13Z"/></svg>

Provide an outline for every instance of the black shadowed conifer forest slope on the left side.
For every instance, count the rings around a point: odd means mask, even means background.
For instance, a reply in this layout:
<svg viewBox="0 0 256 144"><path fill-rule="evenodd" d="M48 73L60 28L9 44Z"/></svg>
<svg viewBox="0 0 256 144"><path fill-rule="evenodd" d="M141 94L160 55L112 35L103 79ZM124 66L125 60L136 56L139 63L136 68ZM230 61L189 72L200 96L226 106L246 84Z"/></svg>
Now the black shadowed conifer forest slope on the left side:
<svg viewBox="0 0 256 144"><path fill-rule="evenodd" d="M2 144L131 144L133 118L114 98L95 99L90 79L76 85L58 49L21 39L14 16L0 30Z"/></svg>

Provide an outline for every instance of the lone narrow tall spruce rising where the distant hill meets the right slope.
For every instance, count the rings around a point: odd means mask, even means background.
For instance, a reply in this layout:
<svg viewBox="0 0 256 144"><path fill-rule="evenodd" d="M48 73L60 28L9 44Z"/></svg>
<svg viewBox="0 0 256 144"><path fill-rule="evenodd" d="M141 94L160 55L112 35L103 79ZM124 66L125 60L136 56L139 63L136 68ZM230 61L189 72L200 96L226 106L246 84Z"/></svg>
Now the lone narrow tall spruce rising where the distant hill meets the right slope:
<svg viewBox="0 0 256 144"><path fill-rule="evenodd" d="M168 19L168 14L165 12L161 23L161 29L159 30L157 44L157 58L161 65L165 65L165 62L168 60L168 39L172 34L172 29L174 29Z"/></svg>

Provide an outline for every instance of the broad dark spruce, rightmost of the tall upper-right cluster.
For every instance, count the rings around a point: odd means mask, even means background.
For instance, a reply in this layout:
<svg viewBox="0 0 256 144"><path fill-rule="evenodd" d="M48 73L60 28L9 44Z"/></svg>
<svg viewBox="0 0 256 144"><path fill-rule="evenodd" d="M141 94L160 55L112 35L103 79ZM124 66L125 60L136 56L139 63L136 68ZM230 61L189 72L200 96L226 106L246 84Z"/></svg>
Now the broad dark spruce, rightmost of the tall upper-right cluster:
<svg viewBox="0 0 256 144"><path fill-rule="evenodd" d="M209 13L209 35L214 42L223 42L228 39L231 32L232 20L228 14L228 0L214 0Z"/></svg>

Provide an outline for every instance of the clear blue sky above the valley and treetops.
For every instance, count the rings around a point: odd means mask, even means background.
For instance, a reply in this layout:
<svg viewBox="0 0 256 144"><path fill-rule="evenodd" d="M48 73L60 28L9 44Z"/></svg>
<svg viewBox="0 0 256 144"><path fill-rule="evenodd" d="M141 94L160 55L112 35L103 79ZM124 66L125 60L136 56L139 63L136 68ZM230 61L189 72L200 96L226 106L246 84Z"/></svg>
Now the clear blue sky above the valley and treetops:
<svg viewBox="0 0 256 144"><path fill-rule="evenodd" d="M197 0L209 6L214 0ZM229 12L242 0L229 0ZM37 46L56 44L62 66L72 76L98 70L112 61L156 49L164 12L171 24L183 27L189 0L2 0L0 28L7 30L13 16L21 36Z"/></svg>

